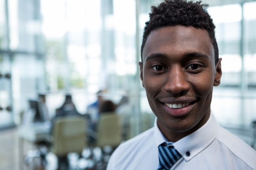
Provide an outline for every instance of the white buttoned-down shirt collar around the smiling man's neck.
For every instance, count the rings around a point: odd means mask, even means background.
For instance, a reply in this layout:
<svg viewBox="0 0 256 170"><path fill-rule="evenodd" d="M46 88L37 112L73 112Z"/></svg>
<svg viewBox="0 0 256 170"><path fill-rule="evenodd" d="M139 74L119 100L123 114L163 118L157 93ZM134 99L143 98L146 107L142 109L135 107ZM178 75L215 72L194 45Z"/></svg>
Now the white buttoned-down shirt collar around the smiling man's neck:
<svg viewBox="0 0 256 170"><path fill-rule="evenodd" d="M176 141L173 146L178 150L178 152L180 152L186 161L189 161L211 144L218 135L219 130L220 125L211 112L209 119L201 128L179 141ZM157 118L155 118L154 132L156 145L158 147L160 144L165 142L165 139L157 126Z"/></svg>

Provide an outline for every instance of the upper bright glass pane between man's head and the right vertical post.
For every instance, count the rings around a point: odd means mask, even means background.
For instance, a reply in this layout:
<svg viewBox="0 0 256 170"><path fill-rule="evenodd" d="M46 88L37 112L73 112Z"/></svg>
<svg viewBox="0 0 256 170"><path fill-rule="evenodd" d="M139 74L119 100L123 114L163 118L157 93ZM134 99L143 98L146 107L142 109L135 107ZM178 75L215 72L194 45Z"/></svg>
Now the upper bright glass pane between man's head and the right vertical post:
<svg viewBox="0 0 256 170"><path fill-rule="evenodd" d="M216 39L222 58L220 86L240 86L242 71L242 7L240 4L210 7L209 13L216 25ZM227 12L228 11L228 12Z"/></svg>

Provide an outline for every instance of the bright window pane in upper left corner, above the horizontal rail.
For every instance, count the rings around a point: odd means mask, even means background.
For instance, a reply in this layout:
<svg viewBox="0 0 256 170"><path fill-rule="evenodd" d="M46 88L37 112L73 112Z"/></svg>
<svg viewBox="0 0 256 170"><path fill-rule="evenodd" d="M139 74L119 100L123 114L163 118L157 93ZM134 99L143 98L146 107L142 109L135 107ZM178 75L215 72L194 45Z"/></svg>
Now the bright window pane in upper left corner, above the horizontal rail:
<svg viewBox="0 0 256 170"><path fill-rule="evenodd" d="M8 0L9 37L12 50L34 52L42 48L40 1Z"/></svg>

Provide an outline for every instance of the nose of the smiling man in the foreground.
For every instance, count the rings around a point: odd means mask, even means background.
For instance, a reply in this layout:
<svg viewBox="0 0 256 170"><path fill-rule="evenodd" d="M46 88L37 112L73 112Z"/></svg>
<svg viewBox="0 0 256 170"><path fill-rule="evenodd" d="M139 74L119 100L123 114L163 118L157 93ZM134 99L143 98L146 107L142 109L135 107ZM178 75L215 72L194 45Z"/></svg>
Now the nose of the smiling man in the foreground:
<svg viewBox="0 0 256 170"><path fill-rule="evenodd" d="M164 90L171 94L184 95L190 87L186 72L180 67L173 67L168 72Z"/></svg>

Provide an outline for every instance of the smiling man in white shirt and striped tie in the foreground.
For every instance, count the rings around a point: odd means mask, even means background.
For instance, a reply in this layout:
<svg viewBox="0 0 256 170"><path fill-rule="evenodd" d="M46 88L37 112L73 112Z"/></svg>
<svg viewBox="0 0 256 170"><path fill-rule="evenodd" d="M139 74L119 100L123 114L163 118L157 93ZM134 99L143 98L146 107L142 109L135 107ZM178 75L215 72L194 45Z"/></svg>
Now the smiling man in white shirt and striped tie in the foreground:
<svg viewBox="0 0 256 170"><path fill-rule="evenodd" d="M166 0L152 7L139 66L157 118L115 150L107 170L256 169L256 151L220 127L210 109L221 59L201 3Z"/></svg>

